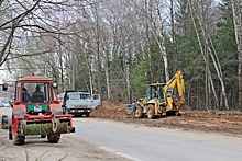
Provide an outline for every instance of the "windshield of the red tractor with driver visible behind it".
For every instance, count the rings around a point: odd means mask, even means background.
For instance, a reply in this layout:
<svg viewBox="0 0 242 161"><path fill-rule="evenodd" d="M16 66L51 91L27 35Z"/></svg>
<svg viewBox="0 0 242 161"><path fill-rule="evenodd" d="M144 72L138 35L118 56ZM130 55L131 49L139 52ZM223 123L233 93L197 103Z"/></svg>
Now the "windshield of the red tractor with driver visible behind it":
<svg viewBox="0 0 242 161"><path fill-rule="evenodd" d="M51 102L50 83L23 83L22 102L24 103L48 103Z"/></svg>

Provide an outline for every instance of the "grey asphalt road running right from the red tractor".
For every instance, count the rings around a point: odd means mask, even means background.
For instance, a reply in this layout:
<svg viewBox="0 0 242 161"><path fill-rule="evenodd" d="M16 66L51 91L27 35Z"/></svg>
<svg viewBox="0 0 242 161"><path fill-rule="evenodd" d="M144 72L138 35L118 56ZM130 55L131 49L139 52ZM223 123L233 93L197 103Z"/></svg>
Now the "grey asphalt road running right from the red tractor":
<svg viewBox="0 0 242 161"><path fill-rule="evenodd" d="M241 138L218 134L139 127L134 124L75 118L78 137L132 160L241 161Z"/></svg>

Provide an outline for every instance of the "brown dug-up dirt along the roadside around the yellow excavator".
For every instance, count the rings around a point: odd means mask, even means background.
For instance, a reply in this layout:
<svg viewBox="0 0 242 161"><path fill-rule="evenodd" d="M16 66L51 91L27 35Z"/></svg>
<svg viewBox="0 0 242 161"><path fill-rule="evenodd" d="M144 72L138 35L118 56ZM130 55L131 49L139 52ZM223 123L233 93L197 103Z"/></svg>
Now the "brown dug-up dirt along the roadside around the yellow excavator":
<svg viewBox="0 0 242 161"><path fill-rule="evenodd" d="M179 128L204 133L220 133L242 137L242 113L239 111L180 111L180 116L136 118L128 115L125 104L102 102L92 117L113 119L151 127Z"/></svg>

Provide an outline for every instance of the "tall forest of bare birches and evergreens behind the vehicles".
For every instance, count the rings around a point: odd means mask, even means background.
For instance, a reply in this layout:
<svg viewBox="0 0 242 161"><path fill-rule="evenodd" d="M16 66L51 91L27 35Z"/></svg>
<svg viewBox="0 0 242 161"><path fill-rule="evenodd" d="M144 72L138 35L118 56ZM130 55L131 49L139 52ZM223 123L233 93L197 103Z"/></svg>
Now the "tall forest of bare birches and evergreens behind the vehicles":
<svg viewBox="0 0 242 161"><path fill-rule="evenodd" d="M240 0L0 0L0 68L130 103L185 76L193 110L242 110ZM8 80L6 79L8 82Z"/></svg>

